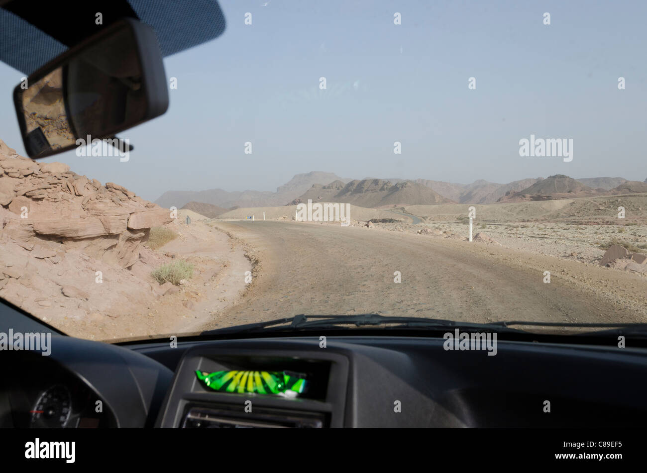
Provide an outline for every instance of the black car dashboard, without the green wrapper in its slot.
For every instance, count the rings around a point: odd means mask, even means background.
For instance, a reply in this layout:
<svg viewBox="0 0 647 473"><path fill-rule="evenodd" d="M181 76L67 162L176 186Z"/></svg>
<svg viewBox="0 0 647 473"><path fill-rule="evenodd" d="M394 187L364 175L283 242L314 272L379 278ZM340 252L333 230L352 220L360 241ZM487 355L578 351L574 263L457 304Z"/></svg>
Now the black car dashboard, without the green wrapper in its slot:
<svg viewBox="0 0 647 473"><path fill-rule="evenodd" d="M642 348L385 335L139 342L57 336L5 352L0 426L53 428L622 427L647 420ZM226 392L196 372L294 372L287 397ZM621 388L631 386L631 389ZM547 407L548 406L548 407Z"/></svg>

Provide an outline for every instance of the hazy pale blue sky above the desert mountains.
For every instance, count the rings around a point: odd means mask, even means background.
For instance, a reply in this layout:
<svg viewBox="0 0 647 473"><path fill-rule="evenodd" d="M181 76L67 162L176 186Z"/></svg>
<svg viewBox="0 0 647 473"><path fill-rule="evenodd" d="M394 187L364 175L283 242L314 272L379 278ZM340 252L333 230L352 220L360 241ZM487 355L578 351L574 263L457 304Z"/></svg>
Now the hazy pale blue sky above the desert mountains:
<svg viewBox="0 0 647 473"><path fill-rule="evenodd" d="M135 146L128 162L74 151L45 161L150 200L275 191L308 171L462 183L647 178L647 2L219 3L225 33L164 60L178 83L168 112L119 135ZM0 64L0 138L24 154L12 103L22 75ZM520 157L531 134L572 138L573 161Z"/></svg>

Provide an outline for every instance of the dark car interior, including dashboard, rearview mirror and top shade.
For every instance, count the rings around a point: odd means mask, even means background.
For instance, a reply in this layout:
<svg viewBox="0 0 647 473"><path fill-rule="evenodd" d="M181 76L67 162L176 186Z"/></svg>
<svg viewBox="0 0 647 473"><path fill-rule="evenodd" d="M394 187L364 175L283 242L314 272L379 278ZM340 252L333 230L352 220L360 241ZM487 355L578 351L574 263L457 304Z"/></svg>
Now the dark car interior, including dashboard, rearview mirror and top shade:
<svg viewBox="0 0 647 473"><path fill-rule="evenodd" d="M96 12L102 12L101 28L84 20ZM217 41L226 25L219 4L206 0L175 6L93 1L65 9L56 2L2 0L0 23L4 63L28 74L30 87L60 78L69 89L62 92L67 125L56 129L34 127L30 117L36 112L25 98L29 89L14 90L23 144L34 160L74 149L86 135L118 139L164 114L173 105L164 58ZM20 41L24 48L17 47ZM123 58L118 67L111 54ZM93 110L87 108L89 96ZM137 153L138 143L131 145ZM647 423L644 324L450 319L286 313L283 319L197 334L108 342L67 335L1 299L0 333L9 335L0 337L0 427ZM51 339L24 349L27 339L16 342L15 333L50 333ZM494 346L475 349L474 333L494 335Z"/></svg>

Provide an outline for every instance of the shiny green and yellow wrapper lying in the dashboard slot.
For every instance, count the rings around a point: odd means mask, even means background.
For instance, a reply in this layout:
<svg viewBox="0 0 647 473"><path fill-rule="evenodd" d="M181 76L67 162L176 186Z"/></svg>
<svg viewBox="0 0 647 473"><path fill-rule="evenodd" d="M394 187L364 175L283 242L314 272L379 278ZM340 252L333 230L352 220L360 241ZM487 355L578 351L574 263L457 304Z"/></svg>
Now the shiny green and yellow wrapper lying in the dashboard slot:
<svg viewBox="0 0 647 473"><path fill-rule="evenodd" d="M219 392L274 394L296 397L303 393L307 381L299 373L268 371L196 371L205 386Z"/></svg>

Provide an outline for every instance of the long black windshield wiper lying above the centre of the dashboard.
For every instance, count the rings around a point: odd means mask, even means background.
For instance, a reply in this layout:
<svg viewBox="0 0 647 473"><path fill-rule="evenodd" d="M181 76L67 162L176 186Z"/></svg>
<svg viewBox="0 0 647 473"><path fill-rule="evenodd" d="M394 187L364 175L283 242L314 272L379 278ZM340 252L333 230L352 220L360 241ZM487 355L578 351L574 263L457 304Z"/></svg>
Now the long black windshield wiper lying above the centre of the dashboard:
<svg viewBox="0 0 647 473"><path fill-rule="evenodd" d="M215 330L203 331L201 335L221 335L225 333L242 333L249 331L298 331L311 330L315 328L336 328L343 325L355 325L356 327L364 326L385 326L388 328L419 328L428 330L437 329L454 329L461 330L474 329L483 331L490 329L492 331L507 331L523 333L521 330L509 328L501 323L477 324L473 322L449 321L445 319L427 319L425 317L391 317L379 315L376 313L367 313L360 315L295 315L285 319L275 319L267 322L257 322L254 324L237 325L234 327L219 328ZM386 327L388 325L388 327Z"/></svg>

